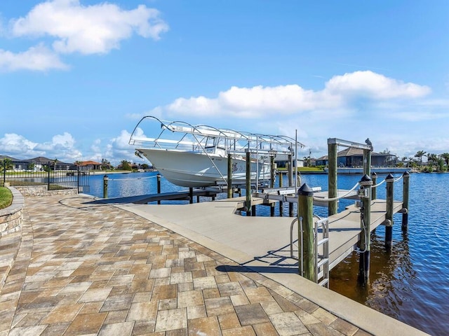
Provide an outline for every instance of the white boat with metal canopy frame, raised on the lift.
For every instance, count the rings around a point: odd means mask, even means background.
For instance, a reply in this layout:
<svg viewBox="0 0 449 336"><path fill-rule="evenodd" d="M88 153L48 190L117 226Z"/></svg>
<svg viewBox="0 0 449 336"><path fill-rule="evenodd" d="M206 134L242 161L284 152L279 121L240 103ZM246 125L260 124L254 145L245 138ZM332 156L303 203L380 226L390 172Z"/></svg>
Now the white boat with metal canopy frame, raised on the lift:
<svg viewBox="0 0 449 336"><path fill-rule="evenodd" d="M142 123L157 124L159 135L146 137ZM156 130L156 129L154 129ZM222 130L207 125L168 122L153 116L140 120L129 143L135 153L145 156L168 181L189 188L227 184L228 155L232 158L233 184L246 181L246 153L250 153L250 178L257 185L271 177L270 156L288 153L293 158L297 146L304 146L285 136L251 134ZM257 174L256 174L257 172Z"/></svg>

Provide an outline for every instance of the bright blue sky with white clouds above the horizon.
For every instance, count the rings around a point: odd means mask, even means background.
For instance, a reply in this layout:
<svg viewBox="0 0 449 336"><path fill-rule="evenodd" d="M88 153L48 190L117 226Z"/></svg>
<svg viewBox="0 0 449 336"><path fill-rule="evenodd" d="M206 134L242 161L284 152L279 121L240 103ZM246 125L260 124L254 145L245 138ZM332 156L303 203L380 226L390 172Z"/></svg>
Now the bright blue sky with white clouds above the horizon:
<svg viewBox="0 0 449 336"><path fill-rule="evenodd" d="M142 116L297 132L299 158L328 138L448 153L448 18L447 0L1 0L0 155L143 163Z"/></svg>

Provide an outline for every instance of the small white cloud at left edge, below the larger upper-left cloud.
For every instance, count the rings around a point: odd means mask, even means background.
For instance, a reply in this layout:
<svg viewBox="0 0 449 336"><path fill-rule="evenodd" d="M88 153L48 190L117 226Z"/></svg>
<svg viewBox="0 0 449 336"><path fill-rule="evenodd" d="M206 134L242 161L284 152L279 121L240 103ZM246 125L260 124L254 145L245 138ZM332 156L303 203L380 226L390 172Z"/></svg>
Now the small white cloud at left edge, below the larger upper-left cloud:
<svg viewBox="0 0 449 336"><path fill-rule="evenodd" d="M68 66L61 62L55 52L48 50L43 44L16 54L0 49L0 70L16 71L20 69L46 71L48 69L68 69Z"/></svg>

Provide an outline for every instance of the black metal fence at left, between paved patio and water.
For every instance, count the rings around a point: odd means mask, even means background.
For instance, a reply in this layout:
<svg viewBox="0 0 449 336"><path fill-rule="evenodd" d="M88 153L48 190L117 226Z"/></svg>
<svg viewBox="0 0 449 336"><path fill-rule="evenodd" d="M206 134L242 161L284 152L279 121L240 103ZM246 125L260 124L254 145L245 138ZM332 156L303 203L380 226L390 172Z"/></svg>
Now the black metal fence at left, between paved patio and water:
<svg viewBox="0 0 449 336"><path fill-rule="evenodd" d="M47 186L48 190L78 188L89 190L89 171L75 165L53 162L29 165L29 162L0 162L0 186Z"/></svg>

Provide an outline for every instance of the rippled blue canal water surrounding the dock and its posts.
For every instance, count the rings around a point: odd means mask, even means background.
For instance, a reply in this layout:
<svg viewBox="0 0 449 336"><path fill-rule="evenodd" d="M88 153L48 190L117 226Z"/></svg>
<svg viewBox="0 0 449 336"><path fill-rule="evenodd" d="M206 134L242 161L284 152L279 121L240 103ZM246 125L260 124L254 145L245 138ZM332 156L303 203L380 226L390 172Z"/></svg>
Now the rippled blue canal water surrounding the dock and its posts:
<svg viewBox="0 0 449 336"><path fill-rule="evenodd" d="M154 176L156 173L110 174L108 195L156 193ZM377 182L384 178L378 176ZM360 179L358 175L339 175L338 188L350 189ZM327 190L328 176L304 175L304 182ZM354 252L330 272L330 288L431 335L449 335L448 187L449 174L411 174L407 234L401 231L401 214L396 214L391 252L384 248L383 226L371 237L370 286L357 285L358 254ZM162 179L161 189L185 188ZM384 199L385 183L377 189L377 197ZM102 197L102 176L91 176L91 195ZM402 200L402 180L395 183L394 198ZM352 202L342 200L339 211ZM257 215L263 216L264 210L267 208L258 209ZM314 211L327 216L327 208Z"/></svg>

